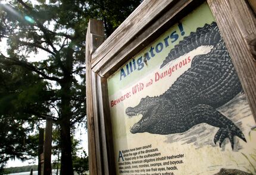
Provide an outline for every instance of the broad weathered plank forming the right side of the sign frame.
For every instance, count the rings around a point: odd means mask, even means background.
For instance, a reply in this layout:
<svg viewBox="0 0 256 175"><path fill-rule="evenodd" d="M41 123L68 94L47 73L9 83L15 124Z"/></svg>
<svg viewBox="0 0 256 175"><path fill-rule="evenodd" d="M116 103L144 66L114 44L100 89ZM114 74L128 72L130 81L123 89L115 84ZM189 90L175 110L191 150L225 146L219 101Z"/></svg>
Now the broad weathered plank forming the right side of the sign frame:
<svg viewBox="0 0 256 175"><path fill-rule="evenodd" d="M255 16L245 0L207 1L216 18L256 120L256 62L248 44L248 41L253 40L252 36L256 34Z"/></svg>

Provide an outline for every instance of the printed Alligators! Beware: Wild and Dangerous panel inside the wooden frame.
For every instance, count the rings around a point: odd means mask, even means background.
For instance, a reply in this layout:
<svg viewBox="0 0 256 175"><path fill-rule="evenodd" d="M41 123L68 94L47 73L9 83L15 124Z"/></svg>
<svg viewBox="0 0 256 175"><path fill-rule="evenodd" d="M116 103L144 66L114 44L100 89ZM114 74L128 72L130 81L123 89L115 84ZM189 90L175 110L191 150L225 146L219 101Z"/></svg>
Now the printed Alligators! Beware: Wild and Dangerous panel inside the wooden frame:
<svg viewBox="0 0 256 175"><path fill-rule="evenodd" d="M255 120L207 3L108 78L108 95L117 174L256 173Z"/></svg>

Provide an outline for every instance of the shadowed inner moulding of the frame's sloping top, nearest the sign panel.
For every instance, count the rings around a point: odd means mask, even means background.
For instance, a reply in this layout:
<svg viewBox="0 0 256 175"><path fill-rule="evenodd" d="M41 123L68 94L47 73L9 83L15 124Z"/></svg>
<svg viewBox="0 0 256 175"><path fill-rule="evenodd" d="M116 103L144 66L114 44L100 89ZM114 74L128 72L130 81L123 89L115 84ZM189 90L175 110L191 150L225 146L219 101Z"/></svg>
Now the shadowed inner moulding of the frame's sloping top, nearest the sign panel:
<svg viewBox="0 0 256 175"><path fill-rule="evenodd" d="M193 2L193 3L192 3ZM108 77L113 74L121 65L128 61L132 56L138 53L143 47L147 46L155 40L161 33L173 26L180 17L188 13L189 9L193 9L202 1L182 0L174 4L167 12L161 15L148 28L144 29L143 33L136 36L132 42L126 43L120 51L112 50L108 53L98 65L93 68L93 71L98 72L101 77ZM192 4L191 4L192 3ZM179 15L178 15L179 14ZM113 55L112 52L117 52ZM115 68L113 68L115 66Z"/></svg>

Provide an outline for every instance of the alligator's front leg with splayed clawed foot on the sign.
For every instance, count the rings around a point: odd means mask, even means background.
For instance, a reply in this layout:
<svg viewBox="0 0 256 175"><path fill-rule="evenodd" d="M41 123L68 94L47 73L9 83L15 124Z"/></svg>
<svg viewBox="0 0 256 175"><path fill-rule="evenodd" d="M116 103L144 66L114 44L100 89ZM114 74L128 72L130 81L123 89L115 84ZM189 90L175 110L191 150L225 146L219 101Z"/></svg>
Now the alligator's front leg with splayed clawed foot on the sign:
<svg viewBox="0 0 256 175"><path fill-rule="evenodd" d="M226 116L218 112L211 106L199 104L188 110L189 121L194 125L199 123L207 123L211 126L220 128L214 136L214 144L218 141L221 147L224 139L229 138L232 149L234 148L234 136L238 136L246 142L245 136L242 131Z"/></svg>

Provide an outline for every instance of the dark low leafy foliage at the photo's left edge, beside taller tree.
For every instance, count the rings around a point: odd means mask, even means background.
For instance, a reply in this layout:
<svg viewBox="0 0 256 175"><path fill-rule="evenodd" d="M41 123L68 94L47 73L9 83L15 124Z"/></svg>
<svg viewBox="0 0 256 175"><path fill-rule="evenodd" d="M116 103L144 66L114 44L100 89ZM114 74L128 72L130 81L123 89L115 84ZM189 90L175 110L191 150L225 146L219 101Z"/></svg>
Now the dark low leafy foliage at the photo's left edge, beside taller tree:
<svg viewBox="0 0 256 175"><path fill-rule="evenodd" d="M0 63L0 174L14 158L27 160L37 155L38 135L33 117L47 113L40 95L46 83L32 72ZM26 75L26 76L25 76ZM29 88L27 88L29 87Z"/></svg>

